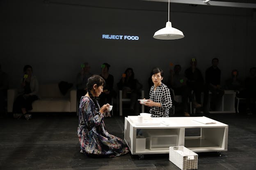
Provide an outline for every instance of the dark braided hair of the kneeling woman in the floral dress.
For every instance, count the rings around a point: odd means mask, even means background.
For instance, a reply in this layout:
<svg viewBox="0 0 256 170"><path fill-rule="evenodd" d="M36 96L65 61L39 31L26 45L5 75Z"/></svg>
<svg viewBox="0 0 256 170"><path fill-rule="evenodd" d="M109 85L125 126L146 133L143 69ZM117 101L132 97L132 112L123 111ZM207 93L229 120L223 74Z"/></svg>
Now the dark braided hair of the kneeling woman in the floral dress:
<svg viewBox="0 0 256 170"><path fill-rule="evenodd" d="M96 108L100 109L98 106L96 97L94 97L91 94L91 89L93 89L93 86L95 84L97 85L97 87L99 87L101 85L105 85L105 80L99 75L92 75L91 77L88 78L88 83L87 83L88 94L89 94L91 100L94 102L94 105L96 106Z"/></svg>

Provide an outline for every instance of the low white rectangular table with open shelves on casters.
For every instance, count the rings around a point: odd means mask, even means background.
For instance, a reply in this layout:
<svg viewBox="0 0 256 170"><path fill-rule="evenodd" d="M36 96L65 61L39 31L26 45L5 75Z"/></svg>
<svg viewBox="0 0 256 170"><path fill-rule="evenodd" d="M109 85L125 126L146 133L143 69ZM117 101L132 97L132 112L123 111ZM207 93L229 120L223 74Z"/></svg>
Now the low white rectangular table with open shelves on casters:
<svg viewBox="0 0 256 170"><path fill-rule="evenodd" d="M125 117L124 123L124 140L130 148L132 154L163 154L169 153L169 148L159 148L150 150L145 148L144 150L136 149L137 130L155 131L159 134L165 132L168 134L177 135L177 145L185 146L193 152L222 152L227 151L228 147L228 125L215 121L216 124L203 124L193 119L202 117L160 117L151 118L154 122L165 121L169 125L135 125L137 116ZM213 120L213 119L210 119ZM214 121L214 120L213 120ZM199 136L185 136L185 129L187 128L199 128L201 134ZM164 138L161 138L161 140ZM147 141L152 142L152 141ZM161 141L160 141L161 142Z"/></svg>

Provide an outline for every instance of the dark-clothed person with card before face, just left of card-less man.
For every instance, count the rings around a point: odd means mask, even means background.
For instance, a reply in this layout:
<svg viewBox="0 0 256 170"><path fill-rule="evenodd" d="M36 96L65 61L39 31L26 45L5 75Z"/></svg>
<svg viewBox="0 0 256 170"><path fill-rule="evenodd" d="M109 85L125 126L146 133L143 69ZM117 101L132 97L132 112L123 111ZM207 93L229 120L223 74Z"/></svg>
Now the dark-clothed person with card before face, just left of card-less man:
<svg viewBox="0 0 256 170"><path fill-rule="evenodd" d="M191 101L195 108L202 107L201 104L201 92L203 92L203 75L197 68L197 59L192 58L190 60L190 68L185 70L185 77L187 78L187 85L190 88L190 93L193 90L194 97L191 96Z"/></svg>

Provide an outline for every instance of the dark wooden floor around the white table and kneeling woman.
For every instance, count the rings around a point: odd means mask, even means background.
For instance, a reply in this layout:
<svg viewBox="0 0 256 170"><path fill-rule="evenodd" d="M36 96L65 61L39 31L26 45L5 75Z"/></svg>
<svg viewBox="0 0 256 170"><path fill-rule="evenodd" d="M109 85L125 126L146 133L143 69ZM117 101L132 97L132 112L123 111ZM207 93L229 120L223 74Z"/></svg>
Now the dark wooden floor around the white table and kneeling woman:
<svg viewBox="0 0 256 170"><path fill-rule="evenodd" d="M199 170L255 170L256 116L210 114L229 125L228 151L198 153ZM105 119L111 134L123 138L124 117ZM168 154L148 154L143 160L126 154L90 158L80 153L75 114L33 114L33 119L0 119L0 170L179 170Z"/></svg>

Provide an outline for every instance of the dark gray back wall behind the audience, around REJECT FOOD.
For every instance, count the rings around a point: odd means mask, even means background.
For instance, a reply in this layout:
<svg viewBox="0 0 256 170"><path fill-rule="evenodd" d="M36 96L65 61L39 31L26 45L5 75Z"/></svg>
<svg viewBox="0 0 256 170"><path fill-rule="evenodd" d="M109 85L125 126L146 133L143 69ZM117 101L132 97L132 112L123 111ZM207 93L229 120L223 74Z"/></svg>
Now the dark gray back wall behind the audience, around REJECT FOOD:
<svg viewBox="0 0 256 170"><path fill-rule="evenodd" d="M25 64L32 65L40 83L74 82L85 61L95 74L102 63L110 63L115 83L133 67L145 90L152 67L162 68L167 77L170 62L185 71L192 57L203 73L218 57L223 81L234 68L244 78L256 65L252 9L171 4L170 21L185 38L156 40L153 34L168 19L167 3L2 0L0 8L0 63L10 87L16 87ZM139 40L105 40L102 34L135 35Z"/></svg>

